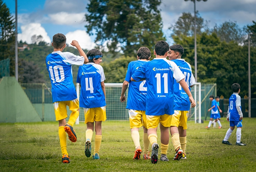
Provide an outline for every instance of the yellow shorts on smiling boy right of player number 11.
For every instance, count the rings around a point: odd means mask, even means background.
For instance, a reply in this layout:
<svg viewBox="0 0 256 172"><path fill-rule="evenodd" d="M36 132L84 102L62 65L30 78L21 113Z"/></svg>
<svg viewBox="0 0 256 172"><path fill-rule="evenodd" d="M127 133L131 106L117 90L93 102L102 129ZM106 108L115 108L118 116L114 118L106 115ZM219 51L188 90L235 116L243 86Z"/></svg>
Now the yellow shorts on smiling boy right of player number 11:
<svg viewBox="0 0 256 172"><path fill-rule="evenodd" d="M171 117L171 126L182 126L183 130L188 128L187 120L189 116L189 111L185 110L174 110L174 114Z"/></svg>

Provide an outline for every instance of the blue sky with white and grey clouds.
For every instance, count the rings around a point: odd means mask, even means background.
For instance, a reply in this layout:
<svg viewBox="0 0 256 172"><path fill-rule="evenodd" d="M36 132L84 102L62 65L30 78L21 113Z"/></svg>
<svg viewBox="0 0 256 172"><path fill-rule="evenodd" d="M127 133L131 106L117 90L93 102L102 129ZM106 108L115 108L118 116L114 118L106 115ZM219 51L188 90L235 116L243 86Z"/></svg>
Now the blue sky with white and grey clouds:
<svg viewBox="0 0 256 172"><path fill-rule="evenodd" d="M15 15L15 0L3 0ZM18 40L31 43L31 36L42 35L47 43L52 36L63 33L67 43L73 39L79 41L82 48L91 49L94 36L89 36L85 30L86 5L88 0L18 0ZM163 32L169 44L171 31L168 28L182 15L182 12L193 13L193 2L184 0L162 0L161 15ZM215 24L225 21L236 21L239 26L251 25L256 21L256 0L208 0L197 2L196 10L201 17Z"/></svg>

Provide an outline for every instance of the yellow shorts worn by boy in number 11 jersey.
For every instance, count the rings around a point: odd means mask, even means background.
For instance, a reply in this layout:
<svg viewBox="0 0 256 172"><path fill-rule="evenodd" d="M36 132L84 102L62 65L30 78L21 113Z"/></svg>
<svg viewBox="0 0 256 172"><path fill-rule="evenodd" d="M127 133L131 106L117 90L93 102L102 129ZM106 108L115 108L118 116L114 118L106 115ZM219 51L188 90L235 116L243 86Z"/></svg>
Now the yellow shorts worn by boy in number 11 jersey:
<svg viewBox="0 0 256 172"><path fill-rule="evenodd" d="M153 115L146 115L147 118L147 129L149 128L156 128L159 123L161 123L164 127L170 127L171 126L171 115L159 115L159 116L153 116Z"/></svg>

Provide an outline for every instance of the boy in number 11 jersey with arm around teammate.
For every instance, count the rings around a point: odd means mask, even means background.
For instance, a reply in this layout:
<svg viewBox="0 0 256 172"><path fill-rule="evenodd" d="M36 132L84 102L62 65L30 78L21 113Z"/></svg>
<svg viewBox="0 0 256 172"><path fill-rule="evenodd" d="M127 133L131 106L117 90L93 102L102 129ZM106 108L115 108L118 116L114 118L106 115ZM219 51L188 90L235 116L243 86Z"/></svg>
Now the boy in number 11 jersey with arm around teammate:
<svg viewBox="0 0 256 172"><path fill-rule="evenodd" d="M179 67L172 61L166 59L169 45L165 41L155 44L154 58L152 61L141 65L132 75L131 81L146 80L146 118L148 128L148 140L152 146L151 162L158 161L157 126L160 123L161 131L161 157L165 157L169 146L169 127L171 126L171 115L174 114L174 79L179 82L195 107L195 101L184 80L185 76ZM162 158L163 159L163 158ZM164 160L164 159L163 159Z"/></svg>

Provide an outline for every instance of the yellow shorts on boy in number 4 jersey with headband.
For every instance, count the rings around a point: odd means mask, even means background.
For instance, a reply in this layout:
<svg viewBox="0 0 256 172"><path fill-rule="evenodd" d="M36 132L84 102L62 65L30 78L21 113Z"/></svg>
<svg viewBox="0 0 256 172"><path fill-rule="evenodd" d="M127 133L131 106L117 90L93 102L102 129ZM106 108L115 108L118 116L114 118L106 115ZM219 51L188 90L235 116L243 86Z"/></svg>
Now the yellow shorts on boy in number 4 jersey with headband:
<svg viewBox="0 0 256 172"><path fill-rule="evenodd" d="M84 108L84 123L106 121L106 106L97 108Z"/></svg>

